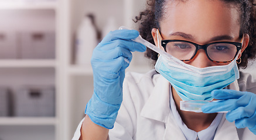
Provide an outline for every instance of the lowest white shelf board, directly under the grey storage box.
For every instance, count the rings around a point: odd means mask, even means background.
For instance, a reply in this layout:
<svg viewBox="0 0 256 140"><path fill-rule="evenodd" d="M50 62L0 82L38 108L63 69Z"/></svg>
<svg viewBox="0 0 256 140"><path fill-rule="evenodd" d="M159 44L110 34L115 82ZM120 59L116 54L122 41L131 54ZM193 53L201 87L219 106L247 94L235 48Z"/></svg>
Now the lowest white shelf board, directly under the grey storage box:
<svg viewBox="0 0 256 140"><path fill-rule="evenodd" d="M54 117L0 117L0 125L55 125Z"/></svg>

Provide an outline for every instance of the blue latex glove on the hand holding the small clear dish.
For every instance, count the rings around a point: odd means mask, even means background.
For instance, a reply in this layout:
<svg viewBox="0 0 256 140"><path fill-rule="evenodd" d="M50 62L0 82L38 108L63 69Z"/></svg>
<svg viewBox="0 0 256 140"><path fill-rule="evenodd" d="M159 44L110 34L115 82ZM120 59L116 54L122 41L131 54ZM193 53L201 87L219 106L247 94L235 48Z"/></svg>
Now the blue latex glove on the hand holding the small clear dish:
<svg viewBox="0 0 256 140"><path fill-rule="evenodd" d="M213 90L211 96L221 101L210 102L202 107L203 113L228 111L226 119L235 121L237 128L248 127L256 135L256 95L236 90Z"/></svg>

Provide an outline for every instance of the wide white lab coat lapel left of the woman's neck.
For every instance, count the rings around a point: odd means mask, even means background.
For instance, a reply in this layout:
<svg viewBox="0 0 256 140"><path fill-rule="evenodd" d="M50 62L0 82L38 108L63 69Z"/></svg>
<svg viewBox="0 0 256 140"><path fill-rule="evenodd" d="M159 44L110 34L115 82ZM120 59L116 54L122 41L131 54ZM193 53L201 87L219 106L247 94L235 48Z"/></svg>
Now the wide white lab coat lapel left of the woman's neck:
<svg viewBox="0 0 256 140"><path fill-rule="evenodd" d="M151 96L141 111L141 116L156 121L167 122L170 113L170 83L162 75L156 82Z"/></svg>

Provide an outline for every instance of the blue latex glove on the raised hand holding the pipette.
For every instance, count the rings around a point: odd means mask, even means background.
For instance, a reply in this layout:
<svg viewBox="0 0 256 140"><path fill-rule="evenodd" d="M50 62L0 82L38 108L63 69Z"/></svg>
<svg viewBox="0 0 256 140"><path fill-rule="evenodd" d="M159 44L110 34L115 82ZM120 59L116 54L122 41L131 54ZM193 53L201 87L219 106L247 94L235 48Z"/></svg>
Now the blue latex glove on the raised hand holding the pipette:
<svg viewBox="0 0 256 140"><path fill-rule="evenodd" d="M94 93L87 103L85 114L101 127L114 127L122 103L125 69L132 60L131 51L146 50L144 45L131 40L138 36L136 30L111 31L93 51Z"/></svg>

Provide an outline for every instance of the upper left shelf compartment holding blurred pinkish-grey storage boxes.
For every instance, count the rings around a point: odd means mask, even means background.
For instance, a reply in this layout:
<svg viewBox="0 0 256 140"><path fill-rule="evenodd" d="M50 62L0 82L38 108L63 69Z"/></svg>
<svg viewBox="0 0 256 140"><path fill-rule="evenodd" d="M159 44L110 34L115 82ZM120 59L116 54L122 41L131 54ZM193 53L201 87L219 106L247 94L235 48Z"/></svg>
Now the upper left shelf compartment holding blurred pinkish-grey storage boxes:
<svg viewBox="0 0 256 140"><path fill-rule="evenodd" d="M53 60L55 16L54 9L1 10L5 20L0 22L0 59Z"/></svg>

